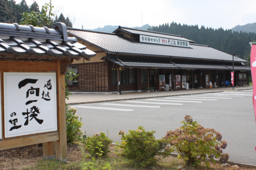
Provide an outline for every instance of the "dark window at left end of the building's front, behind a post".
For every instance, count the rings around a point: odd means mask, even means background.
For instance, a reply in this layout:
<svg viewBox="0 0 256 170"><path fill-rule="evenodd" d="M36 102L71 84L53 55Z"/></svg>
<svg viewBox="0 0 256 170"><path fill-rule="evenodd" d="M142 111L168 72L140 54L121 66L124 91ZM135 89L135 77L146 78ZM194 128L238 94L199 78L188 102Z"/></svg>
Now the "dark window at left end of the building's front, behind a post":
<svg viewBox="0 0 256 170"><path fill-rule="evenodd" d="M134 84L135 83L133 68L128 68L128 69L120 68L119 74L120 74L120 81L122 84ZM112 84L118 85L117 69L116 68L112 69Z"/></svg>

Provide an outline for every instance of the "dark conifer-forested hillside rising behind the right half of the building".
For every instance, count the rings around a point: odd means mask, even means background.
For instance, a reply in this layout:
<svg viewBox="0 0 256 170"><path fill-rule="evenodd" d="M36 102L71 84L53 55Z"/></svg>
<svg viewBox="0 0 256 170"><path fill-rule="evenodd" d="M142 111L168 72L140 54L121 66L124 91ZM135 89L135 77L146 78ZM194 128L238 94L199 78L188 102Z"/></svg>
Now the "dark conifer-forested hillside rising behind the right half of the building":
<svg viewBox="0 0 256 170"><path fill-rule="evenodd" d="M176 22L153 26L148 30L181 35L195 43L210 45L210 47L228 54L238 54L242 59L247 59L250 56L249 42L256 40L256 35L251 32L232 32L232 30L223 28L212 29L204 26L199 28L198 25L181 25Z"/></svg>

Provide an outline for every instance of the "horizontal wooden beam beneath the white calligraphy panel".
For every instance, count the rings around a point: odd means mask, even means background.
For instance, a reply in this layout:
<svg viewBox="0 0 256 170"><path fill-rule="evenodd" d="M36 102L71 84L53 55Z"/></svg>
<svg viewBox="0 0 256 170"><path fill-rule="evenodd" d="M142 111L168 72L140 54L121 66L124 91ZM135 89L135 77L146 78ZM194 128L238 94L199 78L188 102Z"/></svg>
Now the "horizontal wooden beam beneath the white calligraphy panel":
<svg viewBox="0 0 256 170"><path fill-rule="evenodd" d="M60 136L58 132L39 134L30 137L22 137L15 139L8 139L0 141L0 150L6 150L11 148L17 148L22 146L28 146L33 144L39 144L49 141L59 140Z"/></svg>

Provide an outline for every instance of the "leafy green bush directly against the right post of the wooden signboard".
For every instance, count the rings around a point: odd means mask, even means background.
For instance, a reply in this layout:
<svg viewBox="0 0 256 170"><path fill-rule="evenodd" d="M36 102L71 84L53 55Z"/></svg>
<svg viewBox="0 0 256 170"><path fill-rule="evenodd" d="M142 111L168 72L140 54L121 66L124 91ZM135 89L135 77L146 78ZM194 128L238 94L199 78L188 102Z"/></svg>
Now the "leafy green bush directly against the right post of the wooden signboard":
<svg viewBox="0 0 256 170"><path fill-rule="evenodd" d="M66 107L67 142L75 142L83 135L83 131L81 129L83 125L81 123L82 118L79 120L79 116L75 115L75 113L76 108Z"/></svg>

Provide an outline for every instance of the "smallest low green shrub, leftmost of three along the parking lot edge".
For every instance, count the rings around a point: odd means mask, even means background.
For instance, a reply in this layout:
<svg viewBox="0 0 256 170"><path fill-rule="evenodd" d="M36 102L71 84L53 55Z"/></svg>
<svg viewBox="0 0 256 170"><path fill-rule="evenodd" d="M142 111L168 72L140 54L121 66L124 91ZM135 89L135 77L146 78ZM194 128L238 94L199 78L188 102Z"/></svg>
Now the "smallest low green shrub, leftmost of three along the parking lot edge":
<svg viewBox="0 0 256 170"><path fill-rule="evenodd" d="M108 136L101 132L95 133L92 137L88 137L84 146L88 152L90 152L91 156L106 156L112 142L113 140L110 140ZM101 153L102 155L99 155Z"/></svg>

